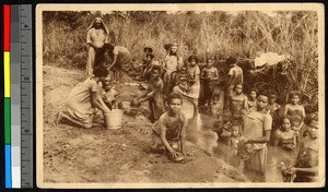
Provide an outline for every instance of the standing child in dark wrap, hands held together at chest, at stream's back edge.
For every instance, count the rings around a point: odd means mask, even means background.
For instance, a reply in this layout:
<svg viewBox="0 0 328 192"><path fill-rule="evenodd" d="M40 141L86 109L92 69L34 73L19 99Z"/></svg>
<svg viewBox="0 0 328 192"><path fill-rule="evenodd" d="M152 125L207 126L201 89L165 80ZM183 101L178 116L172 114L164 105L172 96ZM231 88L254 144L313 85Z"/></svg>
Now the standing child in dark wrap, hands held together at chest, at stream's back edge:
<svg viewBox="0 0 328 192"><path fill-rule="evenodd" d="M218 69L213 67L213 60L211 58L207 59L207 67L202 69L200 79L203 82L204 103L210 107L214 82L219 80ZM210 112L211 109L208 111Z"/></svg>

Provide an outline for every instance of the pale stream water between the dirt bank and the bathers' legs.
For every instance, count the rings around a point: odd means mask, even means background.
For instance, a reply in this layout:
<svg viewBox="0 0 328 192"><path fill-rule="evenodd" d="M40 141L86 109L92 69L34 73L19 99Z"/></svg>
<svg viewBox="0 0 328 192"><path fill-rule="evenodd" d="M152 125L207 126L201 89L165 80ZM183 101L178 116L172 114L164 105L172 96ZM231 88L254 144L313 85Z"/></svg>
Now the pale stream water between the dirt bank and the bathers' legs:
<svg viewBox="0 0 328 192"><path fill-rule="evenodd" d="M198 113L195 119L190 119L187 127L187 141L196 144L198 147L210 153L212 156L223 159L226 164L234 166L238 169L239 160L236 156L236 151L230 151L227 145L221 142L218 142L218 135L212 131L212 124L215 119L204 115ZM268 146L268 161L266 170L266 182L283 182L280 168L278 168L281 161L284 161L285 165L293 165L296 159L295 152L286 152L277 146ZM263 181L262 176L247 175L253 181ZM261 177L258 180L258 177Z"/></svg>

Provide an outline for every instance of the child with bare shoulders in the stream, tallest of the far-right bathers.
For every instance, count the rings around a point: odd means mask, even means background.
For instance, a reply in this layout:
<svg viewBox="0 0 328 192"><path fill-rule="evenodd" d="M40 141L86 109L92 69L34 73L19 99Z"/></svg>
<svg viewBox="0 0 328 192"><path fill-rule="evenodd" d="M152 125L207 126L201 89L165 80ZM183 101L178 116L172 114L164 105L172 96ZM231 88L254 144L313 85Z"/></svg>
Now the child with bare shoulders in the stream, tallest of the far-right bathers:
<svg viewBox="0 0 328 192"><path fill-rule="evenodd" d="M292 129L296 132L296 134L300 133L305 118L305 109L298 104L300 96L301 94L298 92L291 92L292 104L285 105L284 110L284 115L291 120Z"/></svg>

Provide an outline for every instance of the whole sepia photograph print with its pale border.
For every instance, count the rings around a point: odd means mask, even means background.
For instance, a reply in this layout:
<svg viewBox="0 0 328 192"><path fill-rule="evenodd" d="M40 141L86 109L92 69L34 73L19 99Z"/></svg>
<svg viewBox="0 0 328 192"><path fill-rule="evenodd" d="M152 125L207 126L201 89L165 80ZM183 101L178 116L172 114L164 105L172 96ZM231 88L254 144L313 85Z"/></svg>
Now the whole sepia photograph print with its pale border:
<svg viewBox="0 0 328 192"><path fill-rule="evenodd" d="M324 5L38 4L39 188L325 185Z"/></svg>

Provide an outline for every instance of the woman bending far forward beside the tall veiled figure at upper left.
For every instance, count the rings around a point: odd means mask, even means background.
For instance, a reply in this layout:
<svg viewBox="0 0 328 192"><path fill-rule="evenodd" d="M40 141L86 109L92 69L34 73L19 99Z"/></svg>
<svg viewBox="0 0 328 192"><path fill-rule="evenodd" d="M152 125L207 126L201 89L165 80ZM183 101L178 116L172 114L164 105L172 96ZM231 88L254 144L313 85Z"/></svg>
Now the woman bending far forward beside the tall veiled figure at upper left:
<svg viewBox="0 0 328 192"><path fill-rule="evenodd" d="M112 44L105 45L105 51L112 59L112 63L107 67L107 70L114 72L114 82L121 83L122 70L126 71L131 65L130 51L125 47Z"/></svg>

